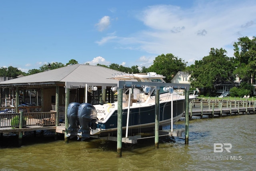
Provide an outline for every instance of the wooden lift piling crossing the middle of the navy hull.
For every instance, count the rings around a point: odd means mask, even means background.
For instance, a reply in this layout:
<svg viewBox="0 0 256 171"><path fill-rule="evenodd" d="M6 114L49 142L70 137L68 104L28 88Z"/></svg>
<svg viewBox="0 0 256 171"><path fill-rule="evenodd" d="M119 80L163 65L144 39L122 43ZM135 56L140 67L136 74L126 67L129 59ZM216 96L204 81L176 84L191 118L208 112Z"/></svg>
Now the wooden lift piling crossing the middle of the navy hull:
<svg viewBox="0 0 256 171"><path fill-rule="evenodd" d="M155 98L155 149L158 149L159 147L159 113L160 113L160 107L159 107L159 91L160 87L156 87L156 98Z"/></svg>

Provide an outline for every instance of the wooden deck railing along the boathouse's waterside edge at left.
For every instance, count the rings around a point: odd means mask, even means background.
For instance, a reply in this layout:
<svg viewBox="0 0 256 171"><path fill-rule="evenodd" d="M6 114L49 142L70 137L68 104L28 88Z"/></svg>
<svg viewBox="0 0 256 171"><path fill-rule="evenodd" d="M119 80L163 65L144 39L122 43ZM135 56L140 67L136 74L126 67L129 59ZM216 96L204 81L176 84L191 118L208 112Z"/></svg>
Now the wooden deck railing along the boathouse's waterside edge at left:
<svg viewBox="0 0 256 171"><path fill-rule="evenodd" d="M53 111L28 113L0 113L0 128L18 128L21 115L23 127L56 125L56 112Z"/></svg>

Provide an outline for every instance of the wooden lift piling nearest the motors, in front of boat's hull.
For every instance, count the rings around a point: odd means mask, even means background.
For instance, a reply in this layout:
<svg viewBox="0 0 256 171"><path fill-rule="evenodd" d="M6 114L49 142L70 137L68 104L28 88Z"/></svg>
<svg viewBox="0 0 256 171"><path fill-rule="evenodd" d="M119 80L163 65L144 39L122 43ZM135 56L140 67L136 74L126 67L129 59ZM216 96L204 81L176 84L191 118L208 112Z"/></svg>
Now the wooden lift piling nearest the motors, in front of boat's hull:
<svg viewBox="0 0 256 171"><path fill-rule="evenodd" d="M119 87L117 95L117 147L116 156L122 157L122 113L123 113L123 89Z"/></svg>

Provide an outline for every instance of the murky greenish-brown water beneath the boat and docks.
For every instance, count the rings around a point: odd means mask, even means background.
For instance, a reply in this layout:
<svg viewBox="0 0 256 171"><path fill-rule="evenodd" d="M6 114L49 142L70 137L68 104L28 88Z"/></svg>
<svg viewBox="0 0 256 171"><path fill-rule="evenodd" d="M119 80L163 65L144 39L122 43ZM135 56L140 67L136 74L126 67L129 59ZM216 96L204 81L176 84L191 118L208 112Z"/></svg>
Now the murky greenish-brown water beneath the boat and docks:
<svg viewBox="0 0 256 171"><path fill-rule="evenodd" d="M256 115L192 119L188 145L184 145L184 136L160 137L158 149L154 149L154 138L142 139L138 144L123 143L121 158L116 157L113 141L72 139L65 144L63 136L54 141L54 133L38 131L36 137L25 134L23 146L17 147L17 136L4 136L0 171L255 170L255 123ZM182 127L184 121L174 125ZM224 148L222 153L214 153L214 143L230 143L230 153Z"/></svg>

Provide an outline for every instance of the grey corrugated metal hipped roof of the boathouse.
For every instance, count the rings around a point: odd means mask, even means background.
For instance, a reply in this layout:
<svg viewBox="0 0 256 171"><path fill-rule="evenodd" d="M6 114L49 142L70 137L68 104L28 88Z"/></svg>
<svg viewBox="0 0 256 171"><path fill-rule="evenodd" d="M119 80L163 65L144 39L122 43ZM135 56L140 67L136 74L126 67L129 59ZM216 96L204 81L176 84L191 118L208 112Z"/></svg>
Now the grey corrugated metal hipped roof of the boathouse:
<svg viewBox="0 0 256 171"><path fill-rule="evenodd" d="M115 80L106 79L118 71L105 68L102 66L92 66L83 64L74 64L58 68L55 70L47 70L37 74L15 78L0 82L5 84L28 84L42 82L81 82L81 83L117 83Z"/></svg>

